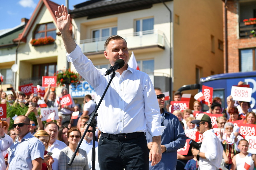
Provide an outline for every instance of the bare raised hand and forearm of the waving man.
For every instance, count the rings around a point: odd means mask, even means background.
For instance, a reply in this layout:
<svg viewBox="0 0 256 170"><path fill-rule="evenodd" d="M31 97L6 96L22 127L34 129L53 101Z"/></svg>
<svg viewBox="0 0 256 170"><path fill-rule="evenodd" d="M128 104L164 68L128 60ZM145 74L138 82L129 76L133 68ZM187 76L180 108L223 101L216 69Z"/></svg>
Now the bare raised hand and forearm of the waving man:
<svg viewBox="0 0 256 170"><path fill-rule="evenodd" d="M69 32L70 14L67 13L67 7L64 5L58 6L58 11L55 11L57 19L57 27L60 30L65 49L71 53L76 48L76 42L73 40Z"/></svg>

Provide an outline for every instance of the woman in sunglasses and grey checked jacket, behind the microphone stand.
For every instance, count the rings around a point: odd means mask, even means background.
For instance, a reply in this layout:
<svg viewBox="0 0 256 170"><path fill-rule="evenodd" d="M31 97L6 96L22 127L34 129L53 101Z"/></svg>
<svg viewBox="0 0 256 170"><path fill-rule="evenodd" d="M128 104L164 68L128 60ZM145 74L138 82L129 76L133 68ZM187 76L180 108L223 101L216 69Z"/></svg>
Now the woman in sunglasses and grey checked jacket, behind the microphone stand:
<svg viewBox="0 0 256 170"><path fill-rule="evenodd" d="M61 170L89 170L87 153L85 150L81 149L81 147L79 148L72 165L68 165L72 155L76 150L77 144L81 139L81 132L77 128L72 127L67 132L67 137L69 145L62 149L60 152L58 168Z"/></svg>

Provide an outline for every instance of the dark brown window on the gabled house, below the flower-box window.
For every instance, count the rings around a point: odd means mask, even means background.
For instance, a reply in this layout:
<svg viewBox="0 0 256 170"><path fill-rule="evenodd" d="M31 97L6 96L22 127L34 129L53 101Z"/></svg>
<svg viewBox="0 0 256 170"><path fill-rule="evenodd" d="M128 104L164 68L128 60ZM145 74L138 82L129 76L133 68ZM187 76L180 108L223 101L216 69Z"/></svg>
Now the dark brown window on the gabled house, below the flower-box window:
<svg viewBox="0 0 256 170"><path fill-rule="evenodd" d="M53 76L57 71L57 63L35 64L32 66L32 77Z"/></svg>

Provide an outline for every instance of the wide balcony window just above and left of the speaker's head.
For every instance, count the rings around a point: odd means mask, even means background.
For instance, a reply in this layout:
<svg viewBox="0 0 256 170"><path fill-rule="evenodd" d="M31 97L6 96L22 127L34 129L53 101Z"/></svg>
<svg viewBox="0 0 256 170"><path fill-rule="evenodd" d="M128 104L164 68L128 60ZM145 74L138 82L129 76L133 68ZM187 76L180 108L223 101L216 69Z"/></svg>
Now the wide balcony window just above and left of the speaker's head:
<svg viewBox="0 0 256 170"><path fill-rule="evenodd" d="M93 41L104 41L111 35L117 35L117 27L102 28L92 31Z"/></svg>

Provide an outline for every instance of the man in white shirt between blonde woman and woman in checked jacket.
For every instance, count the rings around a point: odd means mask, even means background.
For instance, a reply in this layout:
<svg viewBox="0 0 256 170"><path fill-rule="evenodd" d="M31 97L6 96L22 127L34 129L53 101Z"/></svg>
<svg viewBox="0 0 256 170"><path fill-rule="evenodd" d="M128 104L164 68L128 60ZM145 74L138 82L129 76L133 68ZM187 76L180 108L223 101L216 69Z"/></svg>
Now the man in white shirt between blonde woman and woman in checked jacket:
<svg viewBox="0 0 256 170"><path fill-rule="evenodd" d="M59 130L59 126L57 125L57 123L52 121L47 122L44 125L44 130L50 135L50 141L47 151L53 153L51 155L54 159L52 169L58 170L58 159L60 155L60 150L67 147L67 145L64 142L57 140Z"/></svg>

